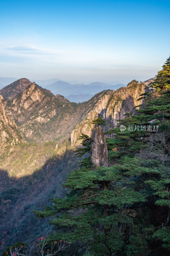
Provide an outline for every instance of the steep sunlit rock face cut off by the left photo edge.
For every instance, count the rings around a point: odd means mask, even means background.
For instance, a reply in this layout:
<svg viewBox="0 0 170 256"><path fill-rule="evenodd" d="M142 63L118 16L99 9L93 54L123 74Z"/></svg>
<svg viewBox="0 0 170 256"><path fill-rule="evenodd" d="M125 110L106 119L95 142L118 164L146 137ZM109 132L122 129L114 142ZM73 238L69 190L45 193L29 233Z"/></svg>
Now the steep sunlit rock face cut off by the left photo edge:
<svg viewBox="0 0 170 256"><path fill-rule="evenodd" d="M5 150L5 147L8 146L7 149L12 148L12 146L24 142L24 140L15 122L10 116L6 115L1 98L2 97L0 97L0 148L2 152Z"/></svg>

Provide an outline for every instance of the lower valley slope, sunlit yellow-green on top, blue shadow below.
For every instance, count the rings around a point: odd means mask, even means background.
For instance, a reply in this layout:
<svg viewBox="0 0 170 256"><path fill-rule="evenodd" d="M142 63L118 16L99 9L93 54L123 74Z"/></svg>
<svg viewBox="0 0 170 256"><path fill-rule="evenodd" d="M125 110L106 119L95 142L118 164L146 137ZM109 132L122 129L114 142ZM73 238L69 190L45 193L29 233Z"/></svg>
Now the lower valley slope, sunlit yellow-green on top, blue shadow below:
<svg viewBox="0 0 170 256"><path fill-rule="evenodd" d="M10 236L6 245L18 241L31 244L47 236L52 231L49 220L36 220L33 210L43 210L51 196L64 196L62 183L69 172L78 168L68 141L57 150L52 141L18 146L15 153L1 158L0 164L0 232Z"/></svg>

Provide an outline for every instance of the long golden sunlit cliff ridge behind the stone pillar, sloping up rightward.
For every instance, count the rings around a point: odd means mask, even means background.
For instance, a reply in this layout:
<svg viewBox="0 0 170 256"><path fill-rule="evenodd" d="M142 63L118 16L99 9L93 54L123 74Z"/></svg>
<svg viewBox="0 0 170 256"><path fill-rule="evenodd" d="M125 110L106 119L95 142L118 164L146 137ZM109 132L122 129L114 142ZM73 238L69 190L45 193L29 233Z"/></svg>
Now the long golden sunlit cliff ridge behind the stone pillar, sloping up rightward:
<svg viewBox="0 0 170 256"><path fill-rule="evenodd" d="M138 100L140 94L146 92L146 85L151 83L154 78L139 83L136 80L130 82L127 87L121 87L117 91L106 90L104 92L95 95L94 97L86 102L86 108L88 111L82 116L82 121L75 127L71 133L71 144L73 146L80 145L81 141L78 137L81 133L92 137L94 126L91 124L92 120L99 115L105 119L107 126L105 130L113 129L118 124L119 119L124 118L125 113L136 113L136 106L143 103L143 100ZM94 103L93 103L94 102Z"/></svg>

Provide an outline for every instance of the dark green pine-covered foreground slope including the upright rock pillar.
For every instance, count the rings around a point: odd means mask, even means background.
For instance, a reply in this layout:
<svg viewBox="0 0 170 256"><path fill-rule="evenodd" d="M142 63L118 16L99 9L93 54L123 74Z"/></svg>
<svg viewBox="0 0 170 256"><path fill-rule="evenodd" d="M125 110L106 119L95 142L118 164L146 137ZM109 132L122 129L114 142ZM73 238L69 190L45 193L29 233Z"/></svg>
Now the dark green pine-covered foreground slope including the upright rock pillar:
<svg viewBox="0 0 170 256"><path fill-rule="evenodd" d="M142 84L129 85L134 90ZM147 90L136 112L126 113L118 127L106 132L112 138L104 138L104 119L92 120L94 135L81 134L84 148L76 151L90 157L67 177L63 187L69 193L34 211L39 219L51 217L55 226L45 243L56 250L58 241L68 245L53 255L170 254L170 58ZM48 245L44 251L50 255Z"/></svg>

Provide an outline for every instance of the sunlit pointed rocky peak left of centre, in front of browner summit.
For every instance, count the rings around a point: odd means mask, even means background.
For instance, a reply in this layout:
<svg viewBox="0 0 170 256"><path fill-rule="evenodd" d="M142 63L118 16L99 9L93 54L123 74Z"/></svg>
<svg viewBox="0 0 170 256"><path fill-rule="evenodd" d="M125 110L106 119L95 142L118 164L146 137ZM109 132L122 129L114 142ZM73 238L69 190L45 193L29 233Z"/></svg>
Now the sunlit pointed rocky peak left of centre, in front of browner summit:
<svg viewBox="0 0 170 256"><path fill-rule="evenodd" d="M54 96L32 83L8 100L6 112L27 141L45 142L66 137L80 121L82 106ZM81 113L80 113L81 112Z"/></svg>

